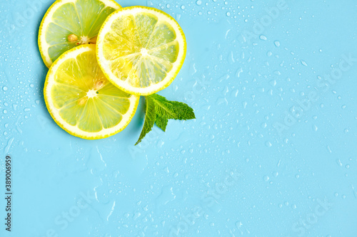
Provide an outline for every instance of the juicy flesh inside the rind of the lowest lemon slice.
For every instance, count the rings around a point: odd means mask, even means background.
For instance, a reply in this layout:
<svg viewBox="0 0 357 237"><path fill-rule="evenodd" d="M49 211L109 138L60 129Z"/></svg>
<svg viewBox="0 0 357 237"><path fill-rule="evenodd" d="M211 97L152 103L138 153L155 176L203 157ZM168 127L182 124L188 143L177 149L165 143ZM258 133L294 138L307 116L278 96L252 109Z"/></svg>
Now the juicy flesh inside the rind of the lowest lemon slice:
<svg viewBox="0 0 357 237"><path fill-rule="evenodd" d="M129 110L131 95L112 85L86 51L59 65L51 88L51 100L61 118L85 132L99 132L121 122Z"/></svg>

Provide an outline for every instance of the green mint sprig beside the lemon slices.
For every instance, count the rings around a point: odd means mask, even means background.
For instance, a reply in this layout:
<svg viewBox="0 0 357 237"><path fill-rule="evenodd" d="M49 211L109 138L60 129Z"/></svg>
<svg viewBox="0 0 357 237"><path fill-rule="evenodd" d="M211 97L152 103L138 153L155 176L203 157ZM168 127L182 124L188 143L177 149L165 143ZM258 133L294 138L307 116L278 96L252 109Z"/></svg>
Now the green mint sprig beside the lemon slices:
<svg viewBox="0 0 357 237"><path fill-rule="evenodd" d="M166 131L169 120L195 119L193 109L183 102L166 100L164 96L153 94L145 97L145 121L143 130L135 145L139 144L154 124Z"/></svg>

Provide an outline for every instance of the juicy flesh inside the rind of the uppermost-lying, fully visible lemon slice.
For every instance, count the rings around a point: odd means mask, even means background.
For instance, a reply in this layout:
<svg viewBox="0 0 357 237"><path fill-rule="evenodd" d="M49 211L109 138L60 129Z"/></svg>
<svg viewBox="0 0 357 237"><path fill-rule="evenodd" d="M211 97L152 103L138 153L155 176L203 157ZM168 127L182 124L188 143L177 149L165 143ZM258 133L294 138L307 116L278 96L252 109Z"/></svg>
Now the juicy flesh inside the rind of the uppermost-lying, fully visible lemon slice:
<svg viewBox="0 0 357 237"><path fill-rule="evenodd" d="M164 80L179 51L174 28L146 12L119 16L111 23L103 45L111 72L134 88L148 88Z"/></svg>

